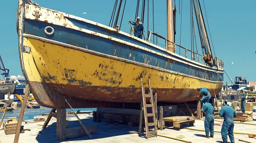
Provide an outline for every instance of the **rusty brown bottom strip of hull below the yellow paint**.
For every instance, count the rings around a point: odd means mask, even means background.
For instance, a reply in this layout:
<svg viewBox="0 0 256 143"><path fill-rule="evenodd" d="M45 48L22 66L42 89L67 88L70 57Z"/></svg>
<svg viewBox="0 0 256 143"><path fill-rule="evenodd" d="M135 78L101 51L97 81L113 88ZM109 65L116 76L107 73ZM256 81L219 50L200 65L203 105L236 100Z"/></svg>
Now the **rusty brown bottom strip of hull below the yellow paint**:
<svg viewBox="0 0 256 143"><path fill-rule="evenodd" d="M50 108L68 108L64 99L67 99L74 108L122 107L122 103L141 102L141 88L81 87L40 82L29 82L29 84L36 87L32 89L36 101ZM214 91L219 93L220 89ZM210 89L212 97L214 91ZM153 92L157 92L157 102L182 103L200 99L200 92L196 89L154 88Z"/></svg>

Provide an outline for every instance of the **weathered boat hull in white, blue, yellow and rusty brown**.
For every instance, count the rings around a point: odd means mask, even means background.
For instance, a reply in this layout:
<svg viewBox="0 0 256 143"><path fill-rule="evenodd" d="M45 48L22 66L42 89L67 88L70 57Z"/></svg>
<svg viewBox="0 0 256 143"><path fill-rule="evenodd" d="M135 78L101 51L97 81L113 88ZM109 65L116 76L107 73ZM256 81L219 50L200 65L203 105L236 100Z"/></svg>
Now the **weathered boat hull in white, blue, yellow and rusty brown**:
<svg viewBox="0 0 256 143"><path fill-rule="evenodd" d="M114 29L106 36L102 26L97 27L100 34L74 26L75 18L60 12L31 5L24 9L24 17L19 14L21 65L35 100L43 106L68 107L64 99L73 108L140 103L140 79L148 87L148 78L157 102L199 100L198 86L208 87L212 95L222 89L222 71ZM53 35L44 31L48 26ZM128 38L130 42L124 41Z"/></svg>

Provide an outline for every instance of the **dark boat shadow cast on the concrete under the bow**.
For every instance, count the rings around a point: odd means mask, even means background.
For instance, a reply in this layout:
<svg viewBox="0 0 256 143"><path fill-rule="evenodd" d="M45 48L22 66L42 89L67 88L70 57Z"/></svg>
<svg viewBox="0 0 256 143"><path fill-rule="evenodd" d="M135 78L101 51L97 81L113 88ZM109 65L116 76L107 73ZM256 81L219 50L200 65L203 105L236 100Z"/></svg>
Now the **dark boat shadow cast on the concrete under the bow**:
<svg viewBox="0 0 256 143"><path fill-rule="evenodd" d="M121 136L127 134L137 134L139 126L129 127L127 124L116 124L116 123L106 123L106 120L102 120L102 122L93 122L93 118L89 117L81 120L85 126L96 126L97 131L92 132L90 139L86 134L66 137L65 141L79 141L79 140L94 140L100 138L107 138L112 136ZM78 121L67 121L68 127L79 127L80 123ZM38 142L61 142L56 140L56 122L45 129L42 129L37 134L36 140Z"/></svg>

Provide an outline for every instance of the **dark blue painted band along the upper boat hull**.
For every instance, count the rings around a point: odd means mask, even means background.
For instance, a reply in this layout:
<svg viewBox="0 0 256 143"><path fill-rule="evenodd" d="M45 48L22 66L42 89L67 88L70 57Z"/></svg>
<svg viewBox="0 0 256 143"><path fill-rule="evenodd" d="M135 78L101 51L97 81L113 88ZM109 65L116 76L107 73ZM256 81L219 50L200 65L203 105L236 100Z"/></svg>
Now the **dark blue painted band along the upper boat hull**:
<svg viewBox="0 0 256 143"><path fill-rule="evenodd" d="M128 42L146 47L150 50L153 50L153 51L165 54L165 55L169 55L171 57L174 57L176 59L180 59L180 60L184 61L184 59L170 55L169 53L167 53L165 51L156 49L153 46L150 46L146 43L140 42L131 37L121 35L121 34L118 34L115 32L110 32L110 31L107 31L106 29L103 29L100 27L97 28L96 26L90 25L85 22L83 22L84 26L82 26L82 23L78 23L77 20L76 21L71 20L71 21L74 22L74 24L76 26L80 26L82 28L86 28L86 29L92 30L92 31L94 30L95 32L98 32L98 33L110 35L112 37L122 39L124 41L128 41ZM86 24L88 26L86 26ZM47 26L51 26L52 28L54 28L53 35L49 36L49 35L45 34L44 29ZM134 61L140 62L140 63L147 63L148 65L158 66L163 69L176 71L176 72L179 72L182 74L199 77L202 79L207 79L207 80L211 80L211 81L223 81L223 74L216 74L214 71L208 71L208 70L193 67L193 66L190 66L185 63L178 62L178 61L173 61L168 58L165 58L165 57L162 57L162 56L150 53L150 52L146 52L144 50L137 49L136 47L132 47L132 46L125 45L125 44L122 44L119 42L115 42L110 39L105 39L105 38L102 38L99 36L90 35L87 33L80 32L80 31L75 31L75 30L71 30L68 28L51 25L49 23L38 22L38 21L26 19L24 33L52 39L52 40L67 43L67 44L71 44L74 46L82 47L84 49L92 50L95 52L100 52L100 53L103 53L106 55L112 55L112 56L124 58L127 60L132 60L132 61L134 60ZM131 53L131 57L129 57L130 53ZM134 57L134 59L133 59L133 57ZM146 57L146 59L145 59L145 57ZM167 66L166 66L166 61L168 63ZM186 61L186 62L194 64L190 61ZM200 65L198 65L198 66L200 66ZM207 68L207 67L204 67L204 68ZM211 68L208 68L208 69L211 69Z"/></svg>

